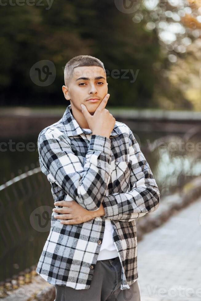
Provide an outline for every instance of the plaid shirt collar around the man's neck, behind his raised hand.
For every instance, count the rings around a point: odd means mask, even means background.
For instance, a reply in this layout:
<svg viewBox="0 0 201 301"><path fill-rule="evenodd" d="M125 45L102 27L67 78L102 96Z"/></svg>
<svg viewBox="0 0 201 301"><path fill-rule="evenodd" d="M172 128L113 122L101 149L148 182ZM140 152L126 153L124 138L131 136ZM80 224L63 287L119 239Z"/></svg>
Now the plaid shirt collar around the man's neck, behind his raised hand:
<svg viewBox="0 0 201 301"><path fill-rule="evenodd" d="M85 131L82 127L79 126L79 124L77 123L77 121L75 120L75 118L72 115L71 104L69 104L69 106L65 109L64 115L62 117L62 123L64 125L66 135L68 137L69 136L77 136L82 133L88 134L88 135L92 133L92 131ZM121 133L121 131L115 123L113 130L110 133L110 136L117 136L117 135L120 135L120 133Z"/></svg>

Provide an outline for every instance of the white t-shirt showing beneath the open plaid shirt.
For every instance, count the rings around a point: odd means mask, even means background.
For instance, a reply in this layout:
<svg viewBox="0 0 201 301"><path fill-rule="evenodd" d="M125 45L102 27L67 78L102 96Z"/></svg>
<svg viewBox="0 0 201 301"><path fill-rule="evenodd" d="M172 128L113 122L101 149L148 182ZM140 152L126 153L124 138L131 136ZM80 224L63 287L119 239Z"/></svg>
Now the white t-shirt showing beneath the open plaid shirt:
<svg viewBox="0 0 201 301"><path fill-rule="evenodd" d="M90 129L83 129L85 131L91 131ZM91 134L86 134L87 140L90 141L92 136ZM113 241L113 232L114 228L112 226L111 220L109 218L105 219L105 230L103 235L103 241L101 244L101 249L98 254L97 260L104 260L104 259L110 259L114 257L118 257L118 252L116 250L116 246Z"/></svg>

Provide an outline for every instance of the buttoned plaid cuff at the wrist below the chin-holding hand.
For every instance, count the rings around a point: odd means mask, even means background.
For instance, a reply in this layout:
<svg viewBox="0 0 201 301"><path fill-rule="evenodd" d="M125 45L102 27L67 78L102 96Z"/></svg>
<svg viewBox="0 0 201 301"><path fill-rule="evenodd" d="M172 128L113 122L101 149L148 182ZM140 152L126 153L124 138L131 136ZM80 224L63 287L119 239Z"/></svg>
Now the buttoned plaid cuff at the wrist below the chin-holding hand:
<svg viewBox="0 0 201 301"><path fill-rule="evenodd" d="M108 137L101 135L92 135L90 144L90 151L101 151L108 155L111 154L111 140Z"/></svg>

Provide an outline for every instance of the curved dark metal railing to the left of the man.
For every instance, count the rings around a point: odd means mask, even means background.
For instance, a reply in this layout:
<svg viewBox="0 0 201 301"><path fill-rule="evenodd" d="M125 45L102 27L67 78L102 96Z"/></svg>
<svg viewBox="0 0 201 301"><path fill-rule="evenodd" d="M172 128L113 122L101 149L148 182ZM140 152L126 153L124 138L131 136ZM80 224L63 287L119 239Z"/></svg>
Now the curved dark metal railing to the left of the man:
<svg viewBox="0 0 201 301"><path fill-rule="evenodd" d="M53 208L50 188L40 167L0 186L1 287L17 288L30 282L36 273L35 263L50 230Z"/></svg>

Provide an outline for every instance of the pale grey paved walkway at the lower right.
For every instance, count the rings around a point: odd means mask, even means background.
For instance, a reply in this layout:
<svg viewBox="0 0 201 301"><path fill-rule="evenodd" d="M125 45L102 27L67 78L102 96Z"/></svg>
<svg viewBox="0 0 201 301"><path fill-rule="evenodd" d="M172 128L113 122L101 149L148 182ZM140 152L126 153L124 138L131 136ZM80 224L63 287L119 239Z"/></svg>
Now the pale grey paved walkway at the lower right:
<svg viewBox="0 0 201 301"><path fill-rule="evenodd" d="M141 301L201 300L201 198L139 241L138 274Z"/></svg>

